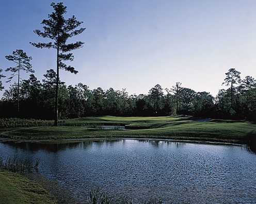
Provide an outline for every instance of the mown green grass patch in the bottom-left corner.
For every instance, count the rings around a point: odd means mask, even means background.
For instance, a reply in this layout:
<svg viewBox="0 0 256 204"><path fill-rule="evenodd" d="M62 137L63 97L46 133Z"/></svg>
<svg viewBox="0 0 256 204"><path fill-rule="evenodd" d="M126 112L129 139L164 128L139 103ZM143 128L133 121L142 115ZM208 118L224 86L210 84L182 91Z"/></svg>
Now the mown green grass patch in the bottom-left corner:
<svg viewBox="0 0 256 204"><path fill-rule="evenodd" d="M57 203L38 183L20 174L0 171L0 183L0 203Z"/></svg>

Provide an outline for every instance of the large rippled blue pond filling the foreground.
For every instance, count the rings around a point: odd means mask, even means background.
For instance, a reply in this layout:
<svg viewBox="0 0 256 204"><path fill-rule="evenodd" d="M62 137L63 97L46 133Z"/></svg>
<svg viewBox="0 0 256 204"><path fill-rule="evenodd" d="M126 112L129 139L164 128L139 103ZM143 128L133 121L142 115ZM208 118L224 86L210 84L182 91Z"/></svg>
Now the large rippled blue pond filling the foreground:
<svg viewBox="0 0 256 204"><path fill-rule="evenodd" d="M256 203L256 155L243 146L127 139L0 143L0 155L40 158L40 173L81 203L92 187L135 202Z"/></svg>

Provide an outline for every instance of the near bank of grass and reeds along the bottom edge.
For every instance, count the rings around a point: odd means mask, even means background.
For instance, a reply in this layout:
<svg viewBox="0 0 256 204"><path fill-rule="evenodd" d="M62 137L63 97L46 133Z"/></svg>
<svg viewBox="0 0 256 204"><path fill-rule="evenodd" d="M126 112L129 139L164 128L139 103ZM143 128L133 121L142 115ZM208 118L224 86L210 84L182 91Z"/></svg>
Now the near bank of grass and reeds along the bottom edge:
<svg viewBox="0 0 256 204"><path fill-rule="evenodd" d="M34 163L17 157L0 157L0 203L80 203L68 189L32 171ZM24 168L20 166L24 165ZM24 169L26 171L24 171ZM131 198L111 197L100 188L85 192L83 200L92 204L133 204ZM84 202L83 202L84 203ZM161 204L161 199L147 199L141 204Z"/></svg>

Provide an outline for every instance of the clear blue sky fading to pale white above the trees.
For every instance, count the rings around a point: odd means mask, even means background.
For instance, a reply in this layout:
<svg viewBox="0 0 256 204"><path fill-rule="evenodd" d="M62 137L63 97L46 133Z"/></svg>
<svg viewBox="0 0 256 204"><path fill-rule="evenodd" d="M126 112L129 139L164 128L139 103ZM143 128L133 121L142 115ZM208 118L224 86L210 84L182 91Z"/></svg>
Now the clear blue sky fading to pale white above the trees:
<svg viewBox="0 0 256 204"><path fill-rule="evenodd" d="M33 57L38 79L56 70L56 51L38 49L43 42L34 29L52 12L48 0L1 0L0 67L15 49ZM175 82L213 95L225 73L235 68L242 77L256 78L256 1L254 0L66 0L67 17L73 14L86 30L75 40L78 74L60 72L69 84L82 82L91 89L126 88L146 94L155 84L170 88ZM72 40L71 40L72 41ZM7 74L9 75L9 74ZM28 78L23 73L22 78ZM7 88L9 83L4 83ZM0 93L0 95L3 94Z"/></svg>

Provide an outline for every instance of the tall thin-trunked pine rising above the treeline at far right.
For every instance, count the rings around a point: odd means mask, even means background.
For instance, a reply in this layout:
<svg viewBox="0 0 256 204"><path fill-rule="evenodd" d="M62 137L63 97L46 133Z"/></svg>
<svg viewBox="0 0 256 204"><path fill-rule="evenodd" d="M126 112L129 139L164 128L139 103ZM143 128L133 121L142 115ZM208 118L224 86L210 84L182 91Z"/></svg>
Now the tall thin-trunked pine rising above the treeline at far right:
<svg viewBox="0 0 256 204"><path fill-rule="evenodd" d="M234 68L229 69L226 73L226 78L224 79L223 84L226 86L230 86L231 89L231 108L233 108L233 94L234 94L234 86L235 84L241 83L240 72L236 71Z"/></svg>

